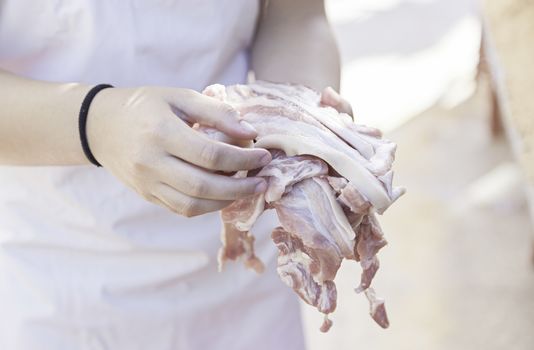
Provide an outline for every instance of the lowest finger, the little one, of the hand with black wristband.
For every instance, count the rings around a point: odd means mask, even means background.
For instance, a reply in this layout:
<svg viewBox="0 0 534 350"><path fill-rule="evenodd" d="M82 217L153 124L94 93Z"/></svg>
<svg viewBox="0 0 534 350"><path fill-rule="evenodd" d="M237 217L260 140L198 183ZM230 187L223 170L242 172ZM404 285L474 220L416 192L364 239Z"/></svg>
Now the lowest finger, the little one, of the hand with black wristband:
<svg viewBox="0 0 534 350"><path fill-rule="evenodd" d="M232 201L192 198L162 182L156 185L153 195L156 197L156 202L163 203L168 209L186 217L221 210L232 203Z"/></svg>

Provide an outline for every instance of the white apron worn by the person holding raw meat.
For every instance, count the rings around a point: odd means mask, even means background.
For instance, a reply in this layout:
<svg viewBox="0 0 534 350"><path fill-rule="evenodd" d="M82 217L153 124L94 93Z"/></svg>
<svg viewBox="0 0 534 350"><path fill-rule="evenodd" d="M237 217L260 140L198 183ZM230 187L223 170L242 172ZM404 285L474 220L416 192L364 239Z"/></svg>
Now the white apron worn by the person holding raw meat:
<svg viewBox="0 0 534 350"><path fill-rule="evenodd" d="M243 82L257 13L253 0L0 0L0 67L116 86ZM275 225L255 231L263 275L219 274L217 214L180 217L93 166L0 166L0 349L303 349Z"/></svg>

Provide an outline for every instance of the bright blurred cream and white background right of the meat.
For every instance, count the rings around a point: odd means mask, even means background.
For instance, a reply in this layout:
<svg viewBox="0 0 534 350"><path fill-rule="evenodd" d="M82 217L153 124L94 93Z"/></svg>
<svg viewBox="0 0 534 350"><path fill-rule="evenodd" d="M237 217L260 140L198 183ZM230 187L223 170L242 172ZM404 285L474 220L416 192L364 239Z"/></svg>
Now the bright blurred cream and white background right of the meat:
<svg viewBox="0 0 534 350"><path fill-rule="evenodd" d="M370 319L353 292L359 267L345 264L329 333L303 306L309 349L534 349L534 1L327 0L327 11L342 93L398 144L408 193L381 217L374 283L390 328Z"/></svg>

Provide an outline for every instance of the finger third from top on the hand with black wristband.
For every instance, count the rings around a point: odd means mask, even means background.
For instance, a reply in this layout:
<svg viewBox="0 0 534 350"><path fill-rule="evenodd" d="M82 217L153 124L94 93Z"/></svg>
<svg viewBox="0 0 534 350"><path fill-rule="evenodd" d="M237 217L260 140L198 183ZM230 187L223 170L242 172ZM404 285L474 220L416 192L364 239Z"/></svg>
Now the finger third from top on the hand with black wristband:
<svg viewBox="0 0 534 350"><path fill-rule="evenodd" d="M263 193L267 189L267 183L263 178L233 178L210 173L172 156L165 158L159 171L158 177L162 182L195 198L235 200ZM187 174L187 176L177 176L177 174Z"/></svg>

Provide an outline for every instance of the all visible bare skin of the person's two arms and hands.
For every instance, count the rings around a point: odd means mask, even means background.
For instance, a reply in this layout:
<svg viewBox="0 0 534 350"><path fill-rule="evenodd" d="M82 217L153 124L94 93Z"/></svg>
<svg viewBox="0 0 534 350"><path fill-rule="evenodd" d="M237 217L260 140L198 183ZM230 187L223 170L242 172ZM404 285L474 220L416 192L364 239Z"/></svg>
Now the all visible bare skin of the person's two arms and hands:
<svg viewBox="0 0 534 350"><path fill-rule="evenodd" d="M259 19L252 69L258 79L337 89L339 54L323 1L270 0ZM90 88L0 70L0 164L89 164L76 116ZM351 112L332 88L324 90L322 101ZM91 151L107 171L146 200L180 215L216 211L265 190L261 178L221 172L261 167L270 161L268 151L211 140L190 128L195 122L233 139L256 136L229 105L193 90L164 87L101 91L91 104L86 130Z"/></svg>

